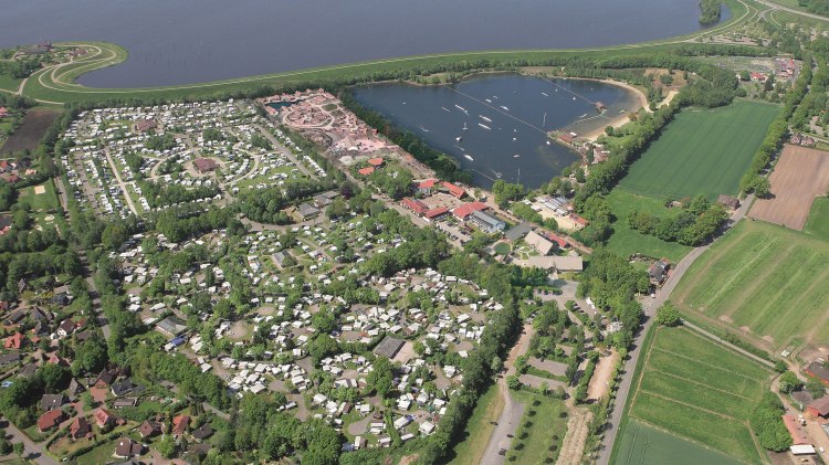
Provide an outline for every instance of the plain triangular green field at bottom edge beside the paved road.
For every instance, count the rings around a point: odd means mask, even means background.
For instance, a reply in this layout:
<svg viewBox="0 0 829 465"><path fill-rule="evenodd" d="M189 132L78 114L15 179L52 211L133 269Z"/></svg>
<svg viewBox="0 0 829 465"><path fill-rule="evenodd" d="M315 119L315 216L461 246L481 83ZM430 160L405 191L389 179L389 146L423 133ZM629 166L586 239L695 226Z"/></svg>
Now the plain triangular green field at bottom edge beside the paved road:
<svg viewBox="0 0 829 465"><path fill-rule="evenodd" d="M741 462L716 451L685 441L638 420L628 423L621 437L619 465L737 465Z"/></svg>

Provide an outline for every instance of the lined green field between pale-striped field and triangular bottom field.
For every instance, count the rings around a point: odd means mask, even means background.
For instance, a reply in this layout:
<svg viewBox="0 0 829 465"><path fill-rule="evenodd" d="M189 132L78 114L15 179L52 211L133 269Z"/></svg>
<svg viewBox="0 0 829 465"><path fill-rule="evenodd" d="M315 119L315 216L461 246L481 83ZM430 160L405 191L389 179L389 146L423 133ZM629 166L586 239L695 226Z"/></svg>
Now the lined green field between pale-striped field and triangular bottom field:
<svg viewBox="0 0 829 465"><path fill-rule="evenodd" d="M770 371L685 328L657 328L646 357L630 399L631 422L675 435L654 435L669 450L686 440L743 462L762 462L747 418L768 389ZM639 444L640 434L636 424L626 430L619 457L644 458L652 452Z"/></svg>

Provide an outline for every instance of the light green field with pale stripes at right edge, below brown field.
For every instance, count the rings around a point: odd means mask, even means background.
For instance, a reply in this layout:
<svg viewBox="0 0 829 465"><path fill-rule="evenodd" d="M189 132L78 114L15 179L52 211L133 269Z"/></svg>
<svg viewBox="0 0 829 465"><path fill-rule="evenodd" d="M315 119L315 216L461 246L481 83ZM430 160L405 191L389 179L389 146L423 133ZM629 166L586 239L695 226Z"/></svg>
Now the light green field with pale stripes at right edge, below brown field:
<svg viewBox="0 0 829 465"><path fill-rule="evenodd" d="M821 224L825 224L823 220ZM829 242L743 221L688 271L673 294L688 316L776 351L829 342Z"/></svg>

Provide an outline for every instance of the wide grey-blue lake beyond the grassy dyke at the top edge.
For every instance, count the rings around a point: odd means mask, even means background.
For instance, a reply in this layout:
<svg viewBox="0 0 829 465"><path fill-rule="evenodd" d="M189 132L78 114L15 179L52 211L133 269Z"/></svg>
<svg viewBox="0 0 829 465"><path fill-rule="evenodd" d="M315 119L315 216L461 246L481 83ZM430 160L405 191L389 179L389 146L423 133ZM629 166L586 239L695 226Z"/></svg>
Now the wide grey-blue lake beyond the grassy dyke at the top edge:
<svg viewBox="0 0 829 465"><path fill-rule="evenodd" d="M0 0L0 46L125 46L124 64L81 77L95 87L428 53L602 46L701 29L699 0Z"/></svg>

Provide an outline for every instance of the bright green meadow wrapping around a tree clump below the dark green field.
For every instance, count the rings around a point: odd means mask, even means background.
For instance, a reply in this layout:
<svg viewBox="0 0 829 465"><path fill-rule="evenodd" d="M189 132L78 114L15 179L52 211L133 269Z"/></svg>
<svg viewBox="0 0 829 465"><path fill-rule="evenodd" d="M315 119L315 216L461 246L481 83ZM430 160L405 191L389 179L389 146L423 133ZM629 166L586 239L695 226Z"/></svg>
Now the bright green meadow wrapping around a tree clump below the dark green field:
<svg viewBox="0 0 829 465"><path fill-rule="evenodd" d="M608 247L621 256L640 253L653 258L665 257L676 263L685 256L692 247L676 242L665 242L652 235L646 235L628 228L628 214L640 210L665 216L669 210L664 202L651 197L639 195L623 188L613 189L607 198L610 211L616 216L612 223L613 234L608 241Z"/></svg>

